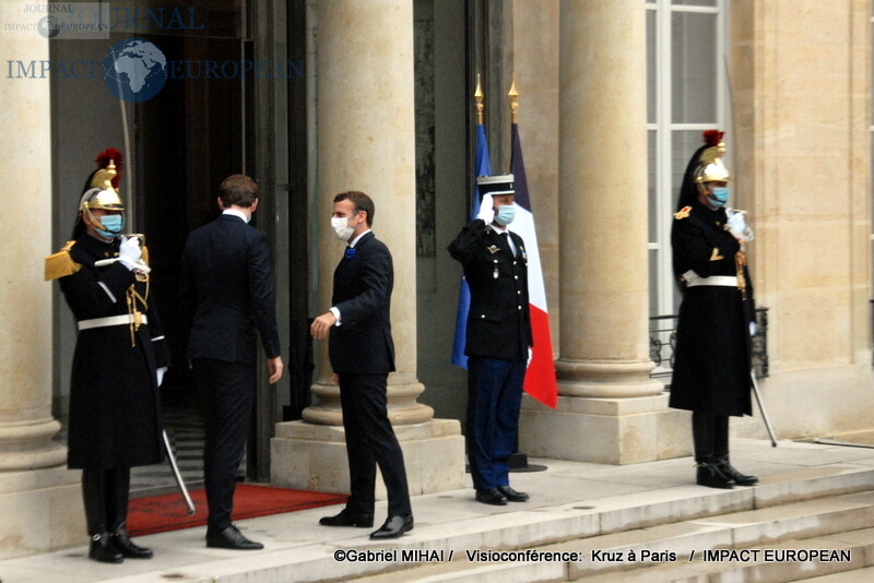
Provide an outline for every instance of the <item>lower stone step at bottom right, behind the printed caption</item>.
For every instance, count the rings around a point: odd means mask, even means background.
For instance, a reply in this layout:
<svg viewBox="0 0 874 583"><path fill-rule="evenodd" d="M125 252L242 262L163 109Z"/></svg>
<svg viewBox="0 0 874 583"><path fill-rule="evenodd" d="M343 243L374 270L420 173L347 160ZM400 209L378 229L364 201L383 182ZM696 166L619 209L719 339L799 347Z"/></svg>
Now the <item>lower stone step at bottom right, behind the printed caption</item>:
<svg viewBox="0 0 874 583"><path fill-rule="evenodd" d="M535 550L575 554L577 560L524 560L520 550L520 560L480 563L456 551L452 562L410 566L355 581L777 582L859 570L874 564L874 491L633 528ZM832 560L820 561L813 551L825 551L819 556Z"/></svg>

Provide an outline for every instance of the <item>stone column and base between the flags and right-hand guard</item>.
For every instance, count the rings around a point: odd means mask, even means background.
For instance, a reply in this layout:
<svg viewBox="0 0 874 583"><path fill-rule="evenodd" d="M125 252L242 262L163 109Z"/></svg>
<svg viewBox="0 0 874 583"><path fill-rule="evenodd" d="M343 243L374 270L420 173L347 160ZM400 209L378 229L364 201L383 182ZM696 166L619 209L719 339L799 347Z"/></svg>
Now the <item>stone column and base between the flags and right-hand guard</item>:
<svg viewBox="0 0 874 583"><path fill-rule="evenodd" d="M624 464L686 451L682 414L649 378L646 53L643 0L562 2L559 404L527 403L531 454Z"/></svg>

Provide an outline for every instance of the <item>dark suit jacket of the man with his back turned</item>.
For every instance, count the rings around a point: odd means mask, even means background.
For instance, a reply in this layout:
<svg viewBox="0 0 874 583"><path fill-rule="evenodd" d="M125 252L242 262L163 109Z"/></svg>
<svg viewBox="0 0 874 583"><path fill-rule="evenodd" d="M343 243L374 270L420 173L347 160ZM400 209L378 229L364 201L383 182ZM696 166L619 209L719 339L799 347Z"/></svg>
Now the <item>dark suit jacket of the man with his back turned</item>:
<svg viewBox="0 0 874 583"><path fill-rule="evenodd" d="M188 358L253 365L256 330L268 358L280 356L267 235L229 214L191 231L179 273L179 309Z"/></svg>

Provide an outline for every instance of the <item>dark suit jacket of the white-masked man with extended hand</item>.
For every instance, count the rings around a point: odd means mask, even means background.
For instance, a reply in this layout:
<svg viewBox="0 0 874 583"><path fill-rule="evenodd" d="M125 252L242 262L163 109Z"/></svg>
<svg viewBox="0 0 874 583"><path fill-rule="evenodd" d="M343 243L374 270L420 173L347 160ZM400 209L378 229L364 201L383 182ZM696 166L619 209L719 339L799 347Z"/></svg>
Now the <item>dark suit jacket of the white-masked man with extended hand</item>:
<svg viewBox="0 0 874 583"><path fill-rule="evenodd" d="M391 290L394 267L388 247L366 233L334 270L331 304L341 325L331 326L328 352L336 373L388 373L394 370Z"/></svg>

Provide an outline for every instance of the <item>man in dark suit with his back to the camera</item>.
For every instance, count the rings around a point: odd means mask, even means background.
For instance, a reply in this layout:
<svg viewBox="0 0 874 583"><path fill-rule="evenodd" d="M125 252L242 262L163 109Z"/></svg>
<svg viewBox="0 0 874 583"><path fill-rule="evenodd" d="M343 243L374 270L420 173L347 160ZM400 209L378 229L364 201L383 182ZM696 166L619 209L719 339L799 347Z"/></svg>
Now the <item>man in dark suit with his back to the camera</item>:
<svg viewBox="0 0 874 583"><path fill-rule="evenodd" d="M223 213L188 237L179 274L179 306L188 331L205 426L206 546L260 549L231 522L256 388L256 329L270 383L282 377L276 307L267 235L248 225L258 185L234 175L220 187Z"/></svg>

